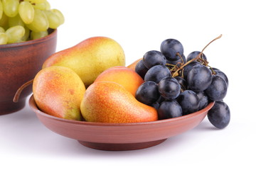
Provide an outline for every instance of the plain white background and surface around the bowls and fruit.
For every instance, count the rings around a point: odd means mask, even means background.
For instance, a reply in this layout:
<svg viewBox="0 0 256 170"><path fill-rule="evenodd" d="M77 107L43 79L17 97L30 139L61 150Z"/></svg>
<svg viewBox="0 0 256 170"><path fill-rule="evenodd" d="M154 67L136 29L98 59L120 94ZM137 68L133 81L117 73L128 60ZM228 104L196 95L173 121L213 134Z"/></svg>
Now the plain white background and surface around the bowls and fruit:
<svg viewBox="0 0 256 170"><path fill-rule="evenodd" d="M225 102L230 125L217 130L206 118L198 127L161 145L126 152L83 147L48 130L28 107L0 116L0 169L255 169L254 1L61 1L49 0L65 16L57 51L92 36L122 45L127 65L176 38L185 55L202 50L210 66L228 75Z"/></svg>

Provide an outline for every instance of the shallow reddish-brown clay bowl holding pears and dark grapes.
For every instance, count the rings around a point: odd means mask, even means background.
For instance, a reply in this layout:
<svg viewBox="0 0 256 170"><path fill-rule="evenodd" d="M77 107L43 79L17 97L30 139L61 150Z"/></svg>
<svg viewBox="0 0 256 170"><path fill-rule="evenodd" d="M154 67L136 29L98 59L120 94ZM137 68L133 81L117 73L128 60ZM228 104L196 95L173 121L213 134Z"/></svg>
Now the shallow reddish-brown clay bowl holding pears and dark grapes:
<svg viewBox="0 0 256 170"><path fill-rule="evenodd" d="M167 138L195 128L206 117L214 103L196 113L178 118L146 123L92 123L57 118L38 109L33 96L29 106L38 119L53 132L78 140L93 149L120 151L152 147Z"/></svg>

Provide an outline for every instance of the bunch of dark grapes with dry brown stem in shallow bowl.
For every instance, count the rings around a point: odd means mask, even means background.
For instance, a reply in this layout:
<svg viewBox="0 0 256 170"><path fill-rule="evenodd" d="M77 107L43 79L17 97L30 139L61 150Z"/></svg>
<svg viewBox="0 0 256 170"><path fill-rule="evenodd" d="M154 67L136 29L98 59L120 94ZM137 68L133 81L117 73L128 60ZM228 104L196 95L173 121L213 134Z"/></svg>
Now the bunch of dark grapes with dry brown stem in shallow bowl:
<svg viewBox="0 0 256 170"><path fill-rule="evenodd" d="M200 111L215 101L208 111L208 120L216 128L225 128L230 122L230 110L223 102L228 77L208 65L203 50L185 57L181 42L167 39L161 42L159 51L146 52L135 67L145 81L137 89L137 100L156 108L159 120Z"/></svg>

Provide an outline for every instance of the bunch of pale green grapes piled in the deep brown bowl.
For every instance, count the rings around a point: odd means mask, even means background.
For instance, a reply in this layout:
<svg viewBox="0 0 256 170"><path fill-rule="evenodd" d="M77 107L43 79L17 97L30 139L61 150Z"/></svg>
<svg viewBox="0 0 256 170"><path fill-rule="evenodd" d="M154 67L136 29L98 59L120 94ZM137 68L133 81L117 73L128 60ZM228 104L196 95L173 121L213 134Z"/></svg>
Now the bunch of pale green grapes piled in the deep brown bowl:
<svg viewBox="0 0 256 170"><path fill-rule="evenodd" d="M47 0L0 0L0 45L43 38L64 21Z"/></svg>

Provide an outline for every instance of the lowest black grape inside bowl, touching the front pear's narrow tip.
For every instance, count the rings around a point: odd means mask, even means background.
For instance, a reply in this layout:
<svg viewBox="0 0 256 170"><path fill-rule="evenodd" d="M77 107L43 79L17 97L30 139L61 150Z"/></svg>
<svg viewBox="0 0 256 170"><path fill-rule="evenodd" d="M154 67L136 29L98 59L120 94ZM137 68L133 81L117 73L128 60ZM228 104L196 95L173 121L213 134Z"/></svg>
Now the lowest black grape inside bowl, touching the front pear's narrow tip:
<svg viewBox="0 0 256 170"><path fill-rule="evenodd" d="M159 120L176 118L182 115L182 108L177 101L163 101L157 113Z"/></svg>

